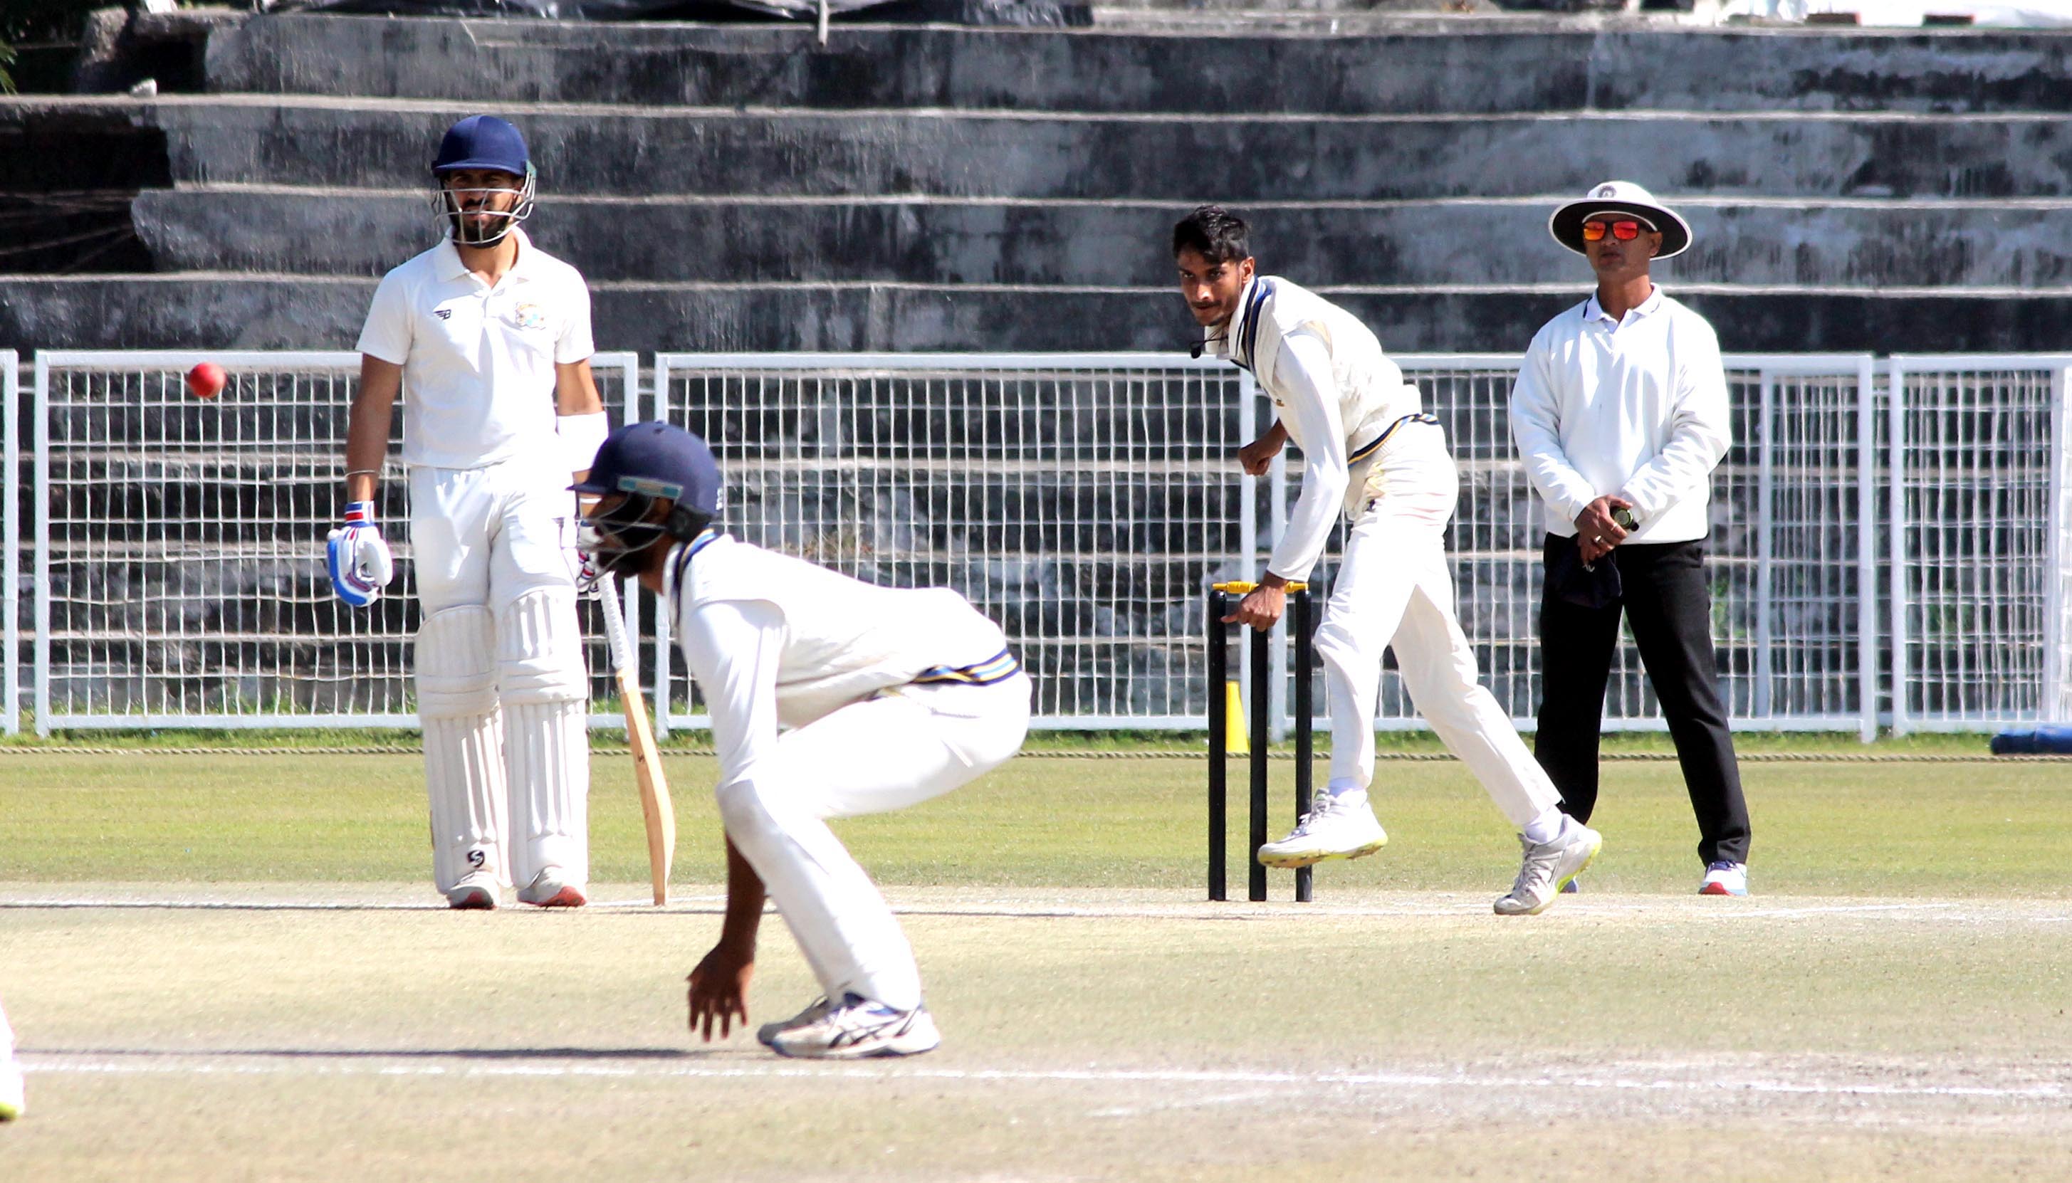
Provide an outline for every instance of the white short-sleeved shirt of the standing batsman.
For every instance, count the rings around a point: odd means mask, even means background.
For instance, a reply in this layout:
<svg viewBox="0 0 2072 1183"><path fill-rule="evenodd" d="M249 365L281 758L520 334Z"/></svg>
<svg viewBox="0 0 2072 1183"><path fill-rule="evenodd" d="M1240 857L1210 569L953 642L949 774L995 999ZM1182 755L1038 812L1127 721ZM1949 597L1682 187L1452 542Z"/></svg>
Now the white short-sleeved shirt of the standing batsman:
<svg viewBox="0 0 2072 1183"><path fill-rule="evenodd" d="M591 290L524 230L518 263L491 288L452 238L381 278L358 350L402 367L402 458L431 468L483 468L551 458L555 363L588 358Z"/></svg>

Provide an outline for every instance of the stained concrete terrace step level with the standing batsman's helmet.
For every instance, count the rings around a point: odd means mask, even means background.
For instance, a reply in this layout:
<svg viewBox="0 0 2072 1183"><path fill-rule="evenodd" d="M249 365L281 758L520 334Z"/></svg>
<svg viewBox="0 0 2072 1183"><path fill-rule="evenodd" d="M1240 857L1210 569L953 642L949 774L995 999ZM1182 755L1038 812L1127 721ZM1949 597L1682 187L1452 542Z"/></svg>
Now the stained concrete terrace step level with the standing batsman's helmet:
<svg viewBox="0 0 2072 1183"><path fill-rule="evenodd" d="M470 108L414 99L12 97L0 166L66 135L166 137L174 180L410 189ZM1527 197L1627 176L1714 197L2072 195L2062 116L1055 116L501 106L582 195L1368 201ZM97 128L97 131L95 131ZM12 151L10 151L12 149ZM1204 168L1204 162L1214 162Z"/></svg>

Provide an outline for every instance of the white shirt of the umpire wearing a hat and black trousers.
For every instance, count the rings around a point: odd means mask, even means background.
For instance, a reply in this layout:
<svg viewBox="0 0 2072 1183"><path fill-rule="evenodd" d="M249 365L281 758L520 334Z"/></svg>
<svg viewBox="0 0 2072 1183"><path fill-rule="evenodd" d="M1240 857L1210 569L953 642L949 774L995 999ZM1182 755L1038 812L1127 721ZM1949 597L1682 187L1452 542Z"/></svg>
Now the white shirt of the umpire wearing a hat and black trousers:
<svg viewBox="0 0 2072 1183"><path fill-rule="evenodd" d="M1711 530L1711 470L1732 443L1720 338L1658 286L1624 319L1598 296L1548 321L1510 387L1510 437L1548 508L1548 532L1604 495L1633 501L1629 543Z"/></svg>

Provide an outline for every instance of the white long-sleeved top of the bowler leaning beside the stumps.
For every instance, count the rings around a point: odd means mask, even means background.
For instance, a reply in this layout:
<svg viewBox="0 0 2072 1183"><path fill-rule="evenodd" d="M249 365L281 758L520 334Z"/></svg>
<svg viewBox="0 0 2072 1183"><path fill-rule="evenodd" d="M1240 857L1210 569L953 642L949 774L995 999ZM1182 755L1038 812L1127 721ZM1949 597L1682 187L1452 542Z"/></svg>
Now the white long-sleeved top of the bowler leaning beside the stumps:
<svg viewBox="0 0 2072 1183"><path fill-rule="evenodd" d="M1266 570L1305 580L1339 510L1359 514L1368 470L1386 460L1372 448L1423 400L1359 317L1280 276L1245 284L1237 315L1206 329L1204 342L1251 371L1301 448L1301 495Z"/></svg>

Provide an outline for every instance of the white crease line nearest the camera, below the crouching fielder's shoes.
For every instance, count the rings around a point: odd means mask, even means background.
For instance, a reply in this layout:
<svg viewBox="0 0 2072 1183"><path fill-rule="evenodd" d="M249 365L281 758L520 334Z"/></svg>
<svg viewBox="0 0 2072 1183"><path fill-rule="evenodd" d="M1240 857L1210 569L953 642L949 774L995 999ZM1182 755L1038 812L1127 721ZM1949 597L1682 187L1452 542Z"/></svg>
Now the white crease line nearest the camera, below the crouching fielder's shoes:
<svg viewBox="0 0 2072 1183"><path fill-rule="evenodd" d="M2068 1100L2072 1086L1910 1086L1910 1084L1817 1084L1786 1079L1631 1079L1571 1075L1471 1075L1471 1073L1295 1073L1295 1071L1191 1071L1191 1069L928 1069L874 1065L586 1065L543 1059L541 1063L354 1063L315 1057L253 1057L234 1052L155 1052L153 1059L93 1059L89 1055L21 1052L29 1073L91 1075L396 1075L396 1077L655 1077L655 1079L951 1079L984 1084L1216 1084L1216 1086L1341 1086L1341 1088L1467 1088L1467 1090L1616 1090L1691 1094L1788 1094L1788 1096L1890 1096L1890 1098L2002 1098ZM379 1059L379 1057L373 1057Z"/></svg>

